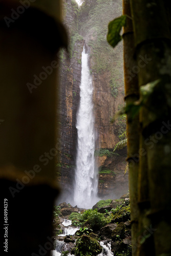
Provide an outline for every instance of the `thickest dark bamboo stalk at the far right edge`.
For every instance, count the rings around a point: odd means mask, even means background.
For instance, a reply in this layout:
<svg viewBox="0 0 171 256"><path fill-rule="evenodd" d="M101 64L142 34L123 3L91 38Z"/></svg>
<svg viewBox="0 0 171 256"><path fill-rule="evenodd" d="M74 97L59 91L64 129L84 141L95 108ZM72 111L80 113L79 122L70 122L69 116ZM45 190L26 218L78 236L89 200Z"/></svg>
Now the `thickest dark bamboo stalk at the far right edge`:
<svg viewBox="0 0 171 256"><path fill-rule="evenodd" d="M143 90L148 95L139 113L139 231L144 226L153 228L151 234L142 238L137 255L171 253L169 6L160 0L131 0L137 66L142 60L146 62L137 69L139 89L142 98Z"/></svg>

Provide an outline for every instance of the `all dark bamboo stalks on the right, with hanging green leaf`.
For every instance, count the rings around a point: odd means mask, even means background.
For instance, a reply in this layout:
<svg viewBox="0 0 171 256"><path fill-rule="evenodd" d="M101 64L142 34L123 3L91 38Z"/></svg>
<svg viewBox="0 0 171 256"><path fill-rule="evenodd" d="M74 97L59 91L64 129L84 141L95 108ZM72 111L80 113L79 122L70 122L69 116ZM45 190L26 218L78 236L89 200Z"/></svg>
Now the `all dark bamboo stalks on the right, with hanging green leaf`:
<svg viewBox="0 0 171 256"><path fill-rule="evenodd" d="M127 161L136 256L171 254L170 10L166 1L123 0L124 16L109 25L113 46L124 26Z"/></svg>

